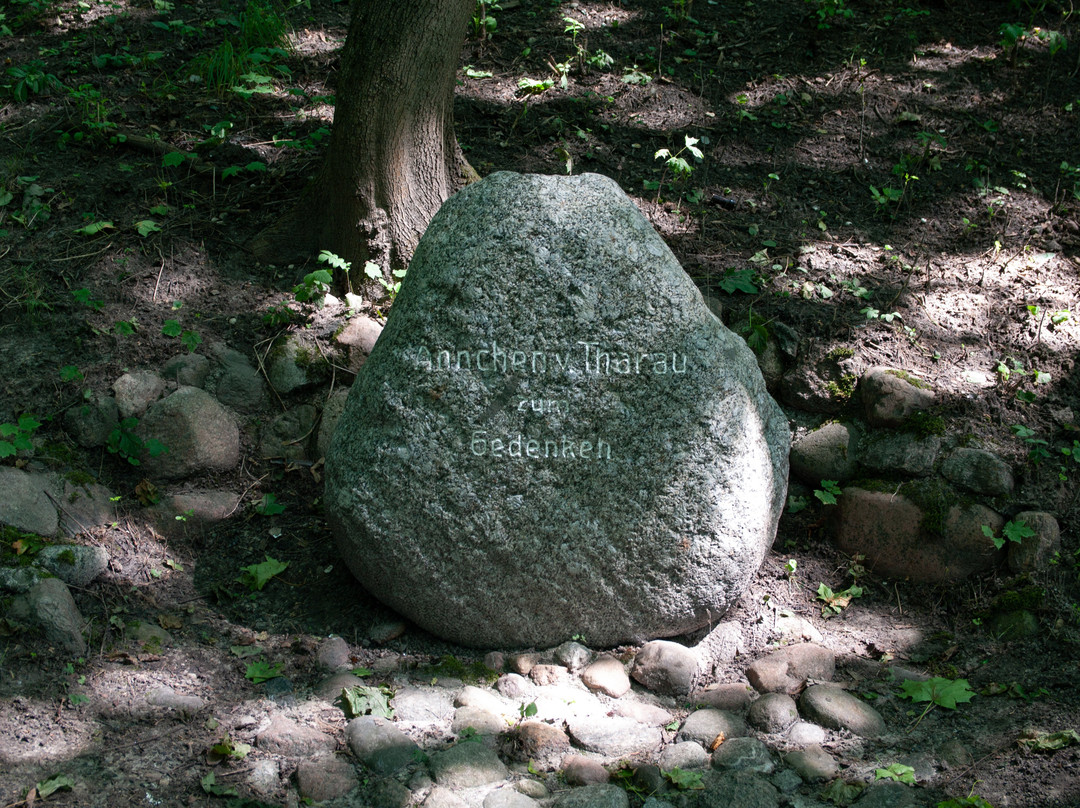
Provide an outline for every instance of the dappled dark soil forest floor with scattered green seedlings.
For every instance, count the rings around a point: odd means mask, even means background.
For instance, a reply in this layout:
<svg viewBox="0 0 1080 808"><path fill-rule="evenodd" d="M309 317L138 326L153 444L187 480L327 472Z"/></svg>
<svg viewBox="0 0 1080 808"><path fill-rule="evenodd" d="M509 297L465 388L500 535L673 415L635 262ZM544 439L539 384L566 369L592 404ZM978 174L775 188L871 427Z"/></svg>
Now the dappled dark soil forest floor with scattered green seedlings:
<svg viewBox="0 0 1080 808"><path fill-rule="evenodd" d="M950 431L1013 463L1015 510L1062 526L1049 571L939 587L870 573L863 596L825 620L818 584L842 589L851 563L813 504L784 517L733 617L750 625L771 598L812 619L841 656L968 678L980 695L912 736L912 751L949 737L973 751L935 799L974 789L998 808L1080 805L1080 748L1017 744L1024 732L1080 730L1080 17L1030 0L851 0L850 17L826 0L502 6L488 12L494 28L471 31L458 75L457 134L482 175L613 177L723 300L730 327L783 324L805 355L850 349L861 368L927 380ZM213 728L124 709L140 685L189 677L213 710L239 710L262 691L230 647L257 642L303 687L316 676L309 651L332 633L364 646L364 660L475 656L411 628L375 643L394 616L335 557L310 470L246 458L201 481L243 493L244 512L166 541L145 516L138 470L73 447L58 417L84 391L181 352L166 321L192 344L249 355L302 324L293 287L322 265L259 266L246 245L319 165L348 5L292 6L281 48L272 23L242 25L273 15L244 16L232 0L3 8L0 425L32 413L39 461L89 471L121 499L116 525L91 537L110 569L77 593L94 627L87 657L0 615L0 723L35 740L40 757L19 763L42 779L66 772L95 793L188 805L202 798ZM232 78L226 41L248 49ZM686 138L701 160L680 151ZM689 172L658 159L664 148ZM379 292L365 297L384 311ZM252 507L266 494L286 506L272 523ZM289 561L287 585L234 596L240 568L268 553ZM1015 592L1038 593L1039 631L1005 641L982 622ZM137 620L176 644L134 647L123 627ZM92 763L102 749L112 769ZM27 771L0 772L0 805L26 799Z"/></svg>

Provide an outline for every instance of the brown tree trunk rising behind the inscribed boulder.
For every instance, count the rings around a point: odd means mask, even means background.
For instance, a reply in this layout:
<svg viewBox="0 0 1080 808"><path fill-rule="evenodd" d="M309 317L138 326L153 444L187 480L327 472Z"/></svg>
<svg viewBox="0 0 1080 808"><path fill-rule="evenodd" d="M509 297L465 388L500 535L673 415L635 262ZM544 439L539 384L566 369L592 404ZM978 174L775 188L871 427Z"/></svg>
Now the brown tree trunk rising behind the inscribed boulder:
<svg viewBox="0 0 1080 808"><path fill-rule="evenodd" d="M329 250L362 275L408 265L440 205L476 178L454 134L454 87L474 0L355 0L322 171L253 250Z"/></svg>

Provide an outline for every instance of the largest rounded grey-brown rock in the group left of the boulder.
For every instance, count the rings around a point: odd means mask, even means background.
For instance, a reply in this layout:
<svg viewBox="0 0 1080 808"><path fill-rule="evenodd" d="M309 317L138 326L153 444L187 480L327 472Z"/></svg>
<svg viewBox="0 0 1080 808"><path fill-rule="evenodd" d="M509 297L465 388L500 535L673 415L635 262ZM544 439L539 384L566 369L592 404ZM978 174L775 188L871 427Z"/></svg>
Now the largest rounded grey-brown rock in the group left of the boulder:
<svg viewBox="0 0 1080 808"><path fill-rule="evenodd" d="M204 471L229 471L240 460L237 421L214 398L197 387L181 387L153 404L136 433L156 439L168 450L145 456L150 476L175 480Z"/></svg>

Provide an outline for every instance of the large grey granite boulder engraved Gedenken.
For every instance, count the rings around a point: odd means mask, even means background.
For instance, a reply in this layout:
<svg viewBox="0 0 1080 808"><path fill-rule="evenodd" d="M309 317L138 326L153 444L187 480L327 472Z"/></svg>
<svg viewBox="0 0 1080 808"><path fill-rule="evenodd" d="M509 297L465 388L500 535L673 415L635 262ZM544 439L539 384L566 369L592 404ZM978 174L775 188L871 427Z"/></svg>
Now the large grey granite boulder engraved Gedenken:
<svg viewBox="0 0 1080 808"><path fill-rule="evenodd" d="M443 637L640 642L742 594L789 437L616 183L500 172L421 239L330 442L326 511L361 582Z"/></svg>

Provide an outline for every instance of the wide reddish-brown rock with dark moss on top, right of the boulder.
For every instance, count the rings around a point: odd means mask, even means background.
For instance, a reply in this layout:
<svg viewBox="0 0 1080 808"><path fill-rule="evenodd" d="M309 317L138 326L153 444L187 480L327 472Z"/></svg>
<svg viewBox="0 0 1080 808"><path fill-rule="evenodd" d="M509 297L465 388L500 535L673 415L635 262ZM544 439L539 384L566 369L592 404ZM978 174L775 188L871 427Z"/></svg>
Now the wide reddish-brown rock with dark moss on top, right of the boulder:
<svg viewBox="0 0 1080 808"><path fill-rule="evenodd" d="M927 582L957 580L993 569L1004 555L983 534L1000 534L1004 520L983 504L954 504L947 486L926 484L922 507L905 495L848 487L837 497L833 537L846 553L866 556L866 566L888 577Z"/></svg>

